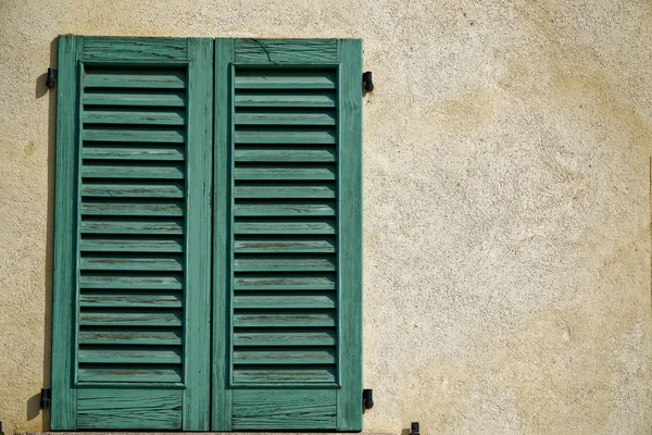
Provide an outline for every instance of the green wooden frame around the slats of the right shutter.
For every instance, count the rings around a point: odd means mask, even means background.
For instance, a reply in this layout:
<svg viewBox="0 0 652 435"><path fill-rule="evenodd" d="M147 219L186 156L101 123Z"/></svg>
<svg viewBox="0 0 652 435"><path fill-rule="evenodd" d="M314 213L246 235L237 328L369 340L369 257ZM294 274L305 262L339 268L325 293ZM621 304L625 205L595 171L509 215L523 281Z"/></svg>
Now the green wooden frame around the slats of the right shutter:
<svg viewBox="0 0 652 435"><path fill-rule="evenodd" d="M233 384L234 96L238 67L334 67L337 77L337 388ZM362 430L362 41L354 39L215 40L215 161L212 430ZM261 389L262 388L262 389ZM235 397L234 395L238 395ZM319 399L322 397L322 399ZM334 403L323 409L298 403ZM239 405L238 405L239 403ZM253 408L252 411L249 409ZM255 410L258 408L258 411ZM236 425L234 414L287 415L294 426L261 417ZM311 417L314 412L314 417ZM313 419L313 421L311 421ZM301 421L303 423L296 423ZM277 423L278 424L278 423Z"/></svg>

